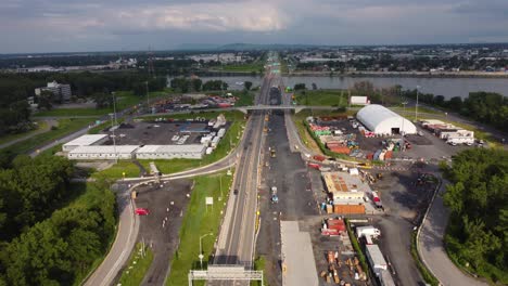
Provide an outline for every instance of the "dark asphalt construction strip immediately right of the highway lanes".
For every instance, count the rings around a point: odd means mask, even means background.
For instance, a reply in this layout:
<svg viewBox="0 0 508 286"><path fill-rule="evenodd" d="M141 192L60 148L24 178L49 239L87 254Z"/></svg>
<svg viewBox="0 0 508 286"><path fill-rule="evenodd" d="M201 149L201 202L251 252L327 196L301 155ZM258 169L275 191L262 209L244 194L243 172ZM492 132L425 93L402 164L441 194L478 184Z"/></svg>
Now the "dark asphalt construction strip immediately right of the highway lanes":
<svg viewBox="0 0 508 286"><path fill-rule="evenodd" d="M317 214L313 193L306 191L309 183L305 162L300 153L291 153L282 113L274 112L268 122L269 131L263 168L261 204L261 231L257 237L257 255L266 257L266 276L269 285L281 285L280 219L299 220ZM276 158L269 157L268 147L276 148ZM270 203L270 188L277 186L279 203Z"/></svg>

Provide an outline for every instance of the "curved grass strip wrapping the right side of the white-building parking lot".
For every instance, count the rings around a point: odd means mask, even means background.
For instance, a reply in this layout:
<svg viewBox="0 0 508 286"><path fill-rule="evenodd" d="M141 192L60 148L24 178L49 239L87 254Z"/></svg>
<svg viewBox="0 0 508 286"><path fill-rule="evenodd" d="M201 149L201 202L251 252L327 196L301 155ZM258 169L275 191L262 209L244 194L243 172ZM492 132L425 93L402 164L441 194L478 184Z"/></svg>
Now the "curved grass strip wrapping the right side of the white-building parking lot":
<svg viewBox="0 0 508 286"><path fill-rule="evenodd" d="M203 114L198 114L195 116L199 117L205 117L205 118L215 118L217 117L219 113L203 113ZM214 161L217 161L224 157L233 148L234 146L238 145L241 134L243 132L242 127L245 126L245 119L243 117L243 114L240 112L228 112L228 113L223 113L226 116L226 119L228 121L231 121L230 128L227 130L225 136L223 140L220 140L219 144L217 145L217 148L209 155L205 155L205 157L201 160L199 159L169 159L169 160L164 160L164 159L157 159L157 160L139 160L141 165L145 168L149 169L149 165L151 161L154 161L155 165L157 166L157 169L164 173L175 173L175 172L180 172L185 170L189 170L192 168L196 168L200 166L205 166L208 164L212 164ZM193 118L195 116L189 116L189 115L174 115L170 116L170 118L175 119L182 119L182 118Z"/></svg>

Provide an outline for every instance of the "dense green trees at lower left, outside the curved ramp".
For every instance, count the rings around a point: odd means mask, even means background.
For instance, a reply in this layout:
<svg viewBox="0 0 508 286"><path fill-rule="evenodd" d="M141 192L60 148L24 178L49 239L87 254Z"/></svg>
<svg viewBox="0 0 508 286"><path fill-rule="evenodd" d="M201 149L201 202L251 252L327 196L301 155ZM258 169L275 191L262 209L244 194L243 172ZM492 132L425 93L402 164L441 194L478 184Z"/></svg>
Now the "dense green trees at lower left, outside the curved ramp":
<svg viewBox="0 0 508 286"><path fill-rule="evenodd" d="M0 285L72 285L107 249L115 197L71 184L62 157L20 156L0 169ZM87 188L87 190L85 190Z"/></svg>

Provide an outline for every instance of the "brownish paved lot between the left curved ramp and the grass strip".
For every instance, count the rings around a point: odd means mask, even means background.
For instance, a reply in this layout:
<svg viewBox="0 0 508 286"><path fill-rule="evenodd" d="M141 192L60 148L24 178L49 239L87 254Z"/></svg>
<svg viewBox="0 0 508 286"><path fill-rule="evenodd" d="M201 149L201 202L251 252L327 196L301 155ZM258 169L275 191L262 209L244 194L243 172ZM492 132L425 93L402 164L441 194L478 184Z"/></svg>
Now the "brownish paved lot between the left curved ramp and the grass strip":
<svg viewBox="0 0 508 286"><path fill-rule="evenodd" d="M178 248L178 231L189 203L187 194L190 193L191 183L191 180L176 180L163 183L163 187L153 184L138 188L137 207L150 210L149 216L140 217L138 242L144 240L154 253L142 285L163 285L169 274L169 263Z"/></svg>

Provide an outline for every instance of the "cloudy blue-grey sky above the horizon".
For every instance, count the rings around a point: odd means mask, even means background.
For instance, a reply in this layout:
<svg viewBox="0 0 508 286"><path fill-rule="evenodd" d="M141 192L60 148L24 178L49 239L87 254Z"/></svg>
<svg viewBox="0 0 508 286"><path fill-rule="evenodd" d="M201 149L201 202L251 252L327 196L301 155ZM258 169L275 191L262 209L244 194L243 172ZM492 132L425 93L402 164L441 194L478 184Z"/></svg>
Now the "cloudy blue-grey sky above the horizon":
<svg viewBox="0 0 508 286"><path fill-rule="evenodd" d="M0 0L0 53L507 42L508 0Z"/></svg>

